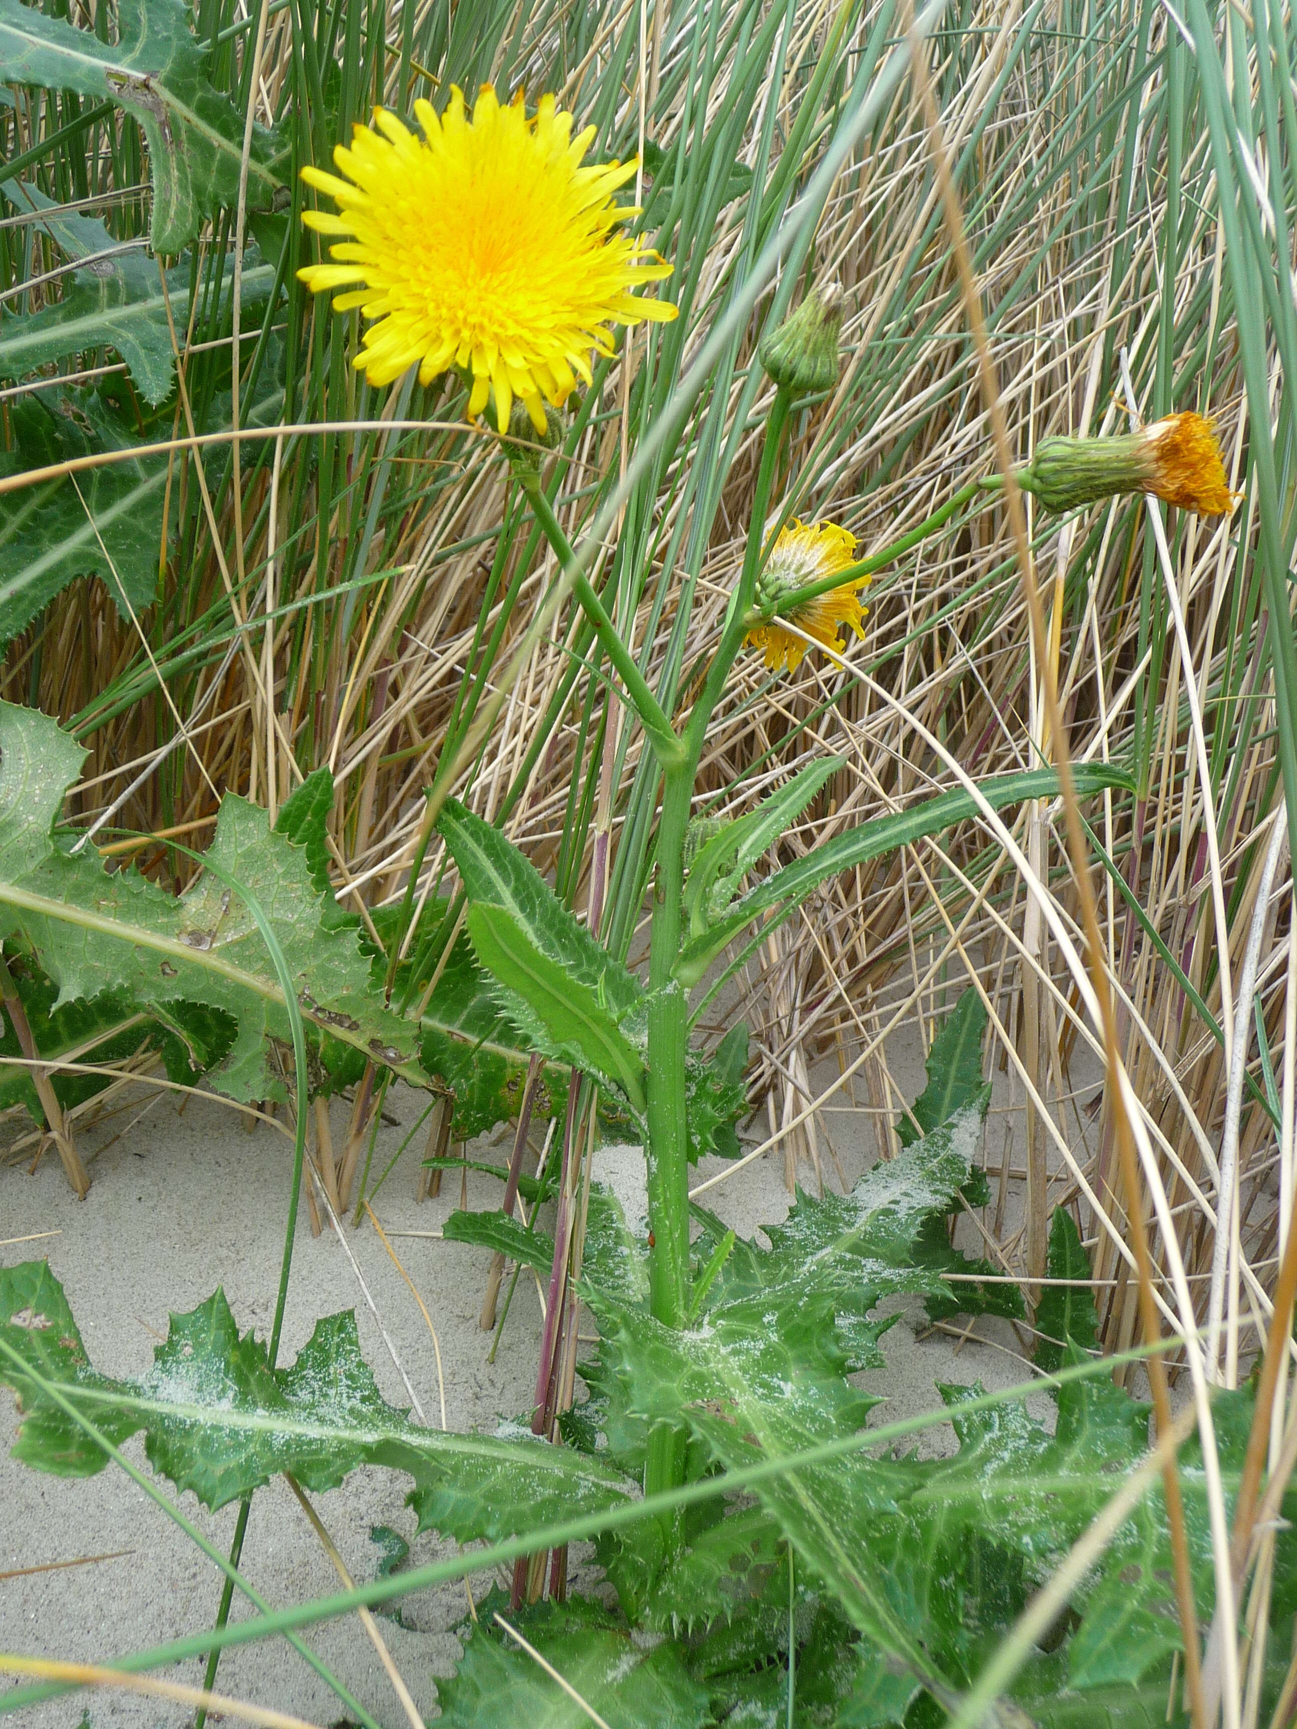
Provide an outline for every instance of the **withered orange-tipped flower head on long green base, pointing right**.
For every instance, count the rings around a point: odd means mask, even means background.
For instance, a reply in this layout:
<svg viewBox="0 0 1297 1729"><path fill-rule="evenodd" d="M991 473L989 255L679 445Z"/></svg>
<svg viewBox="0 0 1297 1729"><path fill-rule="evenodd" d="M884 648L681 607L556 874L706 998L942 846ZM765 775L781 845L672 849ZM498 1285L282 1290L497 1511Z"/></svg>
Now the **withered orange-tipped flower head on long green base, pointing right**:
<svg viewBox="0 0 1297 1729"><path fill-rule="evenodd" d="M1046 437L1017 479L1046 510L1076 510L1119 493L1155 493L1200 517L1223 517L1238 498L1226 484L1212 422L1192 412L1119 437Z"/></svg>

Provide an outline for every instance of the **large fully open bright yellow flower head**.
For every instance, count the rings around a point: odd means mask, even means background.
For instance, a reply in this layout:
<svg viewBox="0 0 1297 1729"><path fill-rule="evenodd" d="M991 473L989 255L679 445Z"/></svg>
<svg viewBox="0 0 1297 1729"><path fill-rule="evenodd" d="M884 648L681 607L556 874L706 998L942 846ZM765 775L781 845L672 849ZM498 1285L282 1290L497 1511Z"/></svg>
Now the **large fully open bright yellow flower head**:
<svg viewBox="0 0 1297 1729"><path fill-rule="evenodd" d="M341 239L335 263L297 275L316 294L346 289L337 311L360 306L377 320L353 361L370 384L415 363L422 384L462 367L470 415L495 389L502 432L515 396L541 432L543 399L559 408L578 377L591 382L591 348L612 353L609 325L676 316L629 292L671 275L657 252L614 232L640 214L612 201L636 163L583 168L595 128L574 138L553 97L527 119L521 93L502 107L482 85L469 118L453 88L444 114L429 102L415 114L422 138L386 109L374 111L375 130L356 126L351 149L334 150L346 180L303 168L339 209L304 211L303 221Z"/></svg>

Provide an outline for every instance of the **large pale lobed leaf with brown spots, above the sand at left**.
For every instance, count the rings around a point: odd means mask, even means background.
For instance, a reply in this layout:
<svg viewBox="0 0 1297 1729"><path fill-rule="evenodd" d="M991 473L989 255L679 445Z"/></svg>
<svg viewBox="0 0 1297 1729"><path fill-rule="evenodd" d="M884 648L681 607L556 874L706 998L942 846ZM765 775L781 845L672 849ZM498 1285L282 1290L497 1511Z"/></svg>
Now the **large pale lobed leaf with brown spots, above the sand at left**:
<svg viewBox="0 0 1297 1729"><path fill-rule="evenodd" d="M66 773L64 787L48 761ZM0 932L19 932L61 1001L111 989L142 1011L208 1003L237 1036L211 1075L232 1098L278 1098L275 1044L291 1041L278 972L251 896L294 980L306 1020L415 1082L418 1032L382 1003L355 932L329 928L303 851L265 811L228 795L206 870L182 896L135 871L66 851L52 823L80 752L55 721L0 704Z"/></svg>

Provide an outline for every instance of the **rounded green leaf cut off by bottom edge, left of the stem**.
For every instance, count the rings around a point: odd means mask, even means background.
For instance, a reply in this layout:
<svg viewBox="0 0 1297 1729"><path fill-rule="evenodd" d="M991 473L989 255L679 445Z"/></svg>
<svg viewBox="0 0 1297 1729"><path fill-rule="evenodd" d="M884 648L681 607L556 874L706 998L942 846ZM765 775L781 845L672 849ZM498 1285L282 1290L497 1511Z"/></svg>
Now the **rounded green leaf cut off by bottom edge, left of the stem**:
<svg viewBox="0 0 1297 1729"><path fill-rule="evenodd" d="M590 1713L493 1622L495 1606L493 1598L479 1605L477 1625L463 1629L455 1679L438 1682L446 1729L588 1729ZM707 1693L673 1641L635 1639L624 1622L583 1598L533 1610L510 1611L507 1599L498 1606L609 1729L712 1722Z"/></svg>

